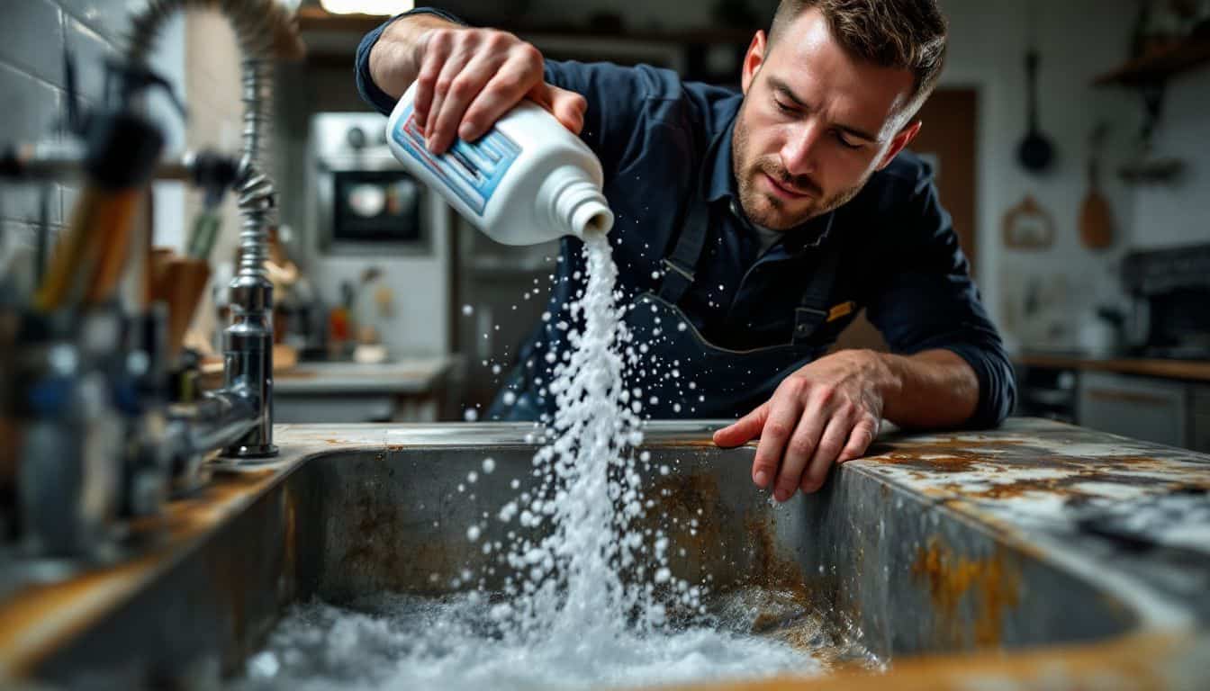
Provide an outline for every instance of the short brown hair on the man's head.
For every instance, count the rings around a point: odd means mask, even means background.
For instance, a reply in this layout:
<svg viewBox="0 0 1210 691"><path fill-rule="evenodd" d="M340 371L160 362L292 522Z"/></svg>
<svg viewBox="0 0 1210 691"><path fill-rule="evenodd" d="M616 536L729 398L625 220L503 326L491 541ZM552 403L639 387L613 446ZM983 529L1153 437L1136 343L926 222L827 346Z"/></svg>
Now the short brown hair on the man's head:
<svg viewBox="0 0 1210 691"><path fill-rule="evenodd" d="M832 36L853 57L911 70L916 86L904 111L915 115L937 87L945 64L947 27L937 0L782 0L768 44L812 8L823 13Z"/></svg>

